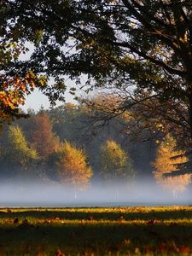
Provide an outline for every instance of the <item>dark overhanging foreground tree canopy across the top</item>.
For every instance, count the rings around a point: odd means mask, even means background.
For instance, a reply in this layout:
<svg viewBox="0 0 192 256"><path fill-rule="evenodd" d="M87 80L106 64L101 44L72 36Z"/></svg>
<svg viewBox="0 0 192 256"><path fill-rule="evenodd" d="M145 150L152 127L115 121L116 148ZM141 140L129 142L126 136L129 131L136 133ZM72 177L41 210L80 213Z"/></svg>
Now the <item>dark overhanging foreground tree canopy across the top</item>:
<svg viewBox="0 0 192 256"><path fill-rule="evenodd" d="M7 42L30 42L34 50L27 61L2 61L1 70L6 78L22 79L32 71L52 102L65 90L65 75L80 83L85 74L90 88L124 86L131 98L143 101L147 93L160 102L181 103L189 136L191 20L192 3L182 0L6 0L1 3L0 44L6 52ZM55 79L55 85L42 87L42 75ZM119 108L129 107L128 101Z"/></svg>

